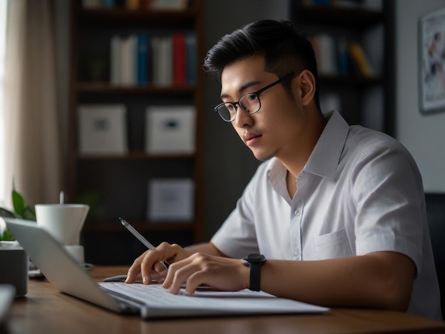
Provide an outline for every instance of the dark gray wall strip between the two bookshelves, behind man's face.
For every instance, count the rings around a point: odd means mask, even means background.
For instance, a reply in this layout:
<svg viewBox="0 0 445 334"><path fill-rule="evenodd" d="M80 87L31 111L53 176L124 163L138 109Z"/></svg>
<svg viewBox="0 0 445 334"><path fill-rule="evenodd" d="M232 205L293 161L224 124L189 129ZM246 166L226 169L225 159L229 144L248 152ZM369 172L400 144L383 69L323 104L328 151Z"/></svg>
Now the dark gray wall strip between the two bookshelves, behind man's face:
<svg viewBox="0 0 445 334"><path fill-rule="evenodd" d="M288 9L289 0L205 0L206 50L246 23L289 19ZM205 236L210 239L235 208L258 161L232 125L213 112L221 101L220 85L206 79L205 89Z"/></svg>

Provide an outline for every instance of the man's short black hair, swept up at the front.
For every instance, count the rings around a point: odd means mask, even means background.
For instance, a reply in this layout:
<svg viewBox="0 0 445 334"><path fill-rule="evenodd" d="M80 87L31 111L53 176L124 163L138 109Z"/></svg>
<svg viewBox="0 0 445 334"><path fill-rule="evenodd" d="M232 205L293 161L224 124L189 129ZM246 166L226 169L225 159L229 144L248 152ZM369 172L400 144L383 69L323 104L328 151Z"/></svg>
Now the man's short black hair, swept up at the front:
<svg viewBox="0 0 445 334"><path fill-rule="evenodd" d="M289 21L256 21L223 36L208 50L203 70L220 81L227 65L255 55L264 56L264 70L278 77L284 77L289 72L312 72L316 81L314 99L320 109L318 70L313 47ZM284 87L290 92L289 82L284 82Z"/></svg>

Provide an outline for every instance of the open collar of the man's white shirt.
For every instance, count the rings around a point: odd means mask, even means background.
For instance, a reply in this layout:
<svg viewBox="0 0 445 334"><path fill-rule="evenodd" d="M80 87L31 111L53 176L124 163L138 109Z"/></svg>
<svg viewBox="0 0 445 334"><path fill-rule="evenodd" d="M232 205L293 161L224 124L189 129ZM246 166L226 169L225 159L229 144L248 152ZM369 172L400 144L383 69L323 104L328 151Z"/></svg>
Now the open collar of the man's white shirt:
<svg viewBox="0 0 445 334"><path fill-rule="evenodd" d="M304 167L304 170L316 174L323 178L333 179L336 175L338 163L341 158L346 138L348 137L349 125L338 112L330 112L325 115L326 124L316 146L313 148L311 156ZM280 176L286 168L277 159L269 161L267 176L272 185L282 181ZM285 175L285 174L284 174Z"/></svg>

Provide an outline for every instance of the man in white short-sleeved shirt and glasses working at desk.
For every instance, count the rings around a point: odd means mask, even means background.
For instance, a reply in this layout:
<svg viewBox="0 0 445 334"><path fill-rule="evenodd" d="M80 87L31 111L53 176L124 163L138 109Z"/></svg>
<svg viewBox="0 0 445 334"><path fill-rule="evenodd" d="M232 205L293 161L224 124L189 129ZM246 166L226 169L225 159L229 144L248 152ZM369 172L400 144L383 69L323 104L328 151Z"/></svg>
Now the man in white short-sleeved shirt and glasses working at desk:
<svg viewBox="0 0 445 334"><path fill-rule="evenodd" d="M306 38L289 22L251 23L210 49L204 69L221 82L215 111L264 163L210 242L160 244L127 283L141 272L146 284L166 275L171 293L208 284L441 318L417 166L390 136L322 114Z"/></svg>

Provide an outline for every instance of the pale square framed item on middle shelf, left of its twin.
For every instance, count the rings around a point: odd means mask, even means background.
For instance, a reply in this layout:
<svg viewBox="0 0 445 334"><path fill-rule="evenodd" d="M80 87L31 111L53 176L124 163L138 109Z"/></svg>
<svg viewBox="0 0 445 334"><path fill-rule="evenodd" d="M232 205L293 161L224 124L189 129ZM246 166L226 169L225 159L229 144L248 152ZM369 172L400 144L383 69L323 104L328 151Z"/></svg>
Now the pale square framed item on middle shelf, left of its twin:
<svg viewBox="0 0 445 334"><path fill-rule="evenodd" d="M83 104L77 112L80 153L127 153L127 109L123 104Z"/></svg>

